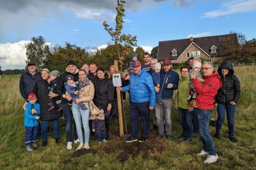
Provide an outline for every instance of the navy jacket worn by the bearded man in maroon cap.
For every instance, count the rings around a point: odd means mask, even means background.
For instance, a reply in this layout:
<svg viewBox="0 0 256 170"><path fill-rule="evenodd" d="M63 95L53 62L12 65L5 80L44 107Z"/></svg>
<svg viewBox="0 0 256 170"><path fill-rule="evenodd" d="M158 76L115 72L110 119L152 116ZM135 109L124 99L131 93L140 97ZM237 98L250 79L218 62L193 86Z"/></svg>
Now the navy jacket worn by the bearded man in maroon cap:
<svg viewBox="0 0 256 170"><path fill-rule="evenodd" d="M167 85L169 83L173 84L173 87L168 89ZM173 90L178 88L179 84L179 74L177 72L174 72L173 70L170 70L168 73L164 73L163 70L160 72L160 94L161 99L172 99L173 97Z"/></svg>

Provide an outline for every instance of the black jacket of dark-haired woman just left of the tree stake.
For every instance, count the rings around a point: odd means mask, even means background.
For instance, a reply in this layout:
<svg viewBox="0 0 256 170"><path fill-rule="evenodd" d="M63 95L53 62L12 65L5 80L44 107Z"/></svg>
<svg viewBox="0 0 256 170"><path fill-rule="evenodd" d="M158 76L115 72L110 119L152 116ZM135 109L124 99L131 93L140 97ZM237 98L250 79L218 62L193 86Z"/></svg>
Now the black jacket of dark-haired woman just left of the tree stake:
<svg viewBox="0 0 256 170"><path fill-rule="evenodd" d="M106 108L108 104L112 104L114 100L114 86L111 79L97 79L93 83L95 88L95 94L93 98L94 104L102 108Z"/></svg>

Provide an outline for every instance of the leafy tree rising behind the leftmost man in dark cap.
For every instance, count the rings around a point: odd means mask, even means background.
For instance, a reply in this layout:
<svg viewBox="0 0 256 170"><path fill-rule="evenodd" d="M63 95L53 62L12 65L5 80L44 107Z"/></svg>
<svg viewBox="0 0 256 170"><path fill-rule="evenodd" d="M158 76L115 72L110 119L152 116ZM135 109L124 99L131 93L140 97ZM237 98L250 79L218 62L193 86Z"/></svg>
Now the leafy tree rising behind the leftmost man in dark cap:
<svg viewBox="0 0 256 170"><path fill-rule="evenodd" d="M26 45L27 61L35 61L38 68L42 68L45 65L45 60L51 51L49 45L45 44L45 40L42 36L31 38L31 42Z"/></svg>

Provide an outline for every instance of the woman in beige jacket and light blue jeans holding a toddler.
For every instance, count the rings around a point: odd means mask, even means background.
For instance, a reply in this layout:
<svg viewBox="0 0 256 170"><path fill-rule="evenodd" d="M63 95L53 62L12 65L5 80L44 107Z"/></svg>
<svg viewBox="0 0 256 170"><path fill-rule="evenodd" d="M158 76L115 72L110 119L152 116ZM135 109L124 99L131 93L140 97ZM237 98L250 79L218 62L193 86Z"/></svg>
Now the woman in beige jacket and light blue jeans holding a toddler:
<svg viewBox="0 0 256 170"><path fill-rule="evenodd" d="M76 130L79 139L79 146L77 150L81 150L82 148L89 149L89 137L90 137L90 129L89 129L89 102L93 100L94 97L94 86L91 81L89 81L87 77L86 70L81 69L78 72L79 81L78 84L82 87L81 94L79 98L76 99L72 103L72 113L74 116L74 120L76 122ZM86 109L82 109L78 104L79 102L83 102ZM83 129L84 128L84 140L83 140Z"/></svg>

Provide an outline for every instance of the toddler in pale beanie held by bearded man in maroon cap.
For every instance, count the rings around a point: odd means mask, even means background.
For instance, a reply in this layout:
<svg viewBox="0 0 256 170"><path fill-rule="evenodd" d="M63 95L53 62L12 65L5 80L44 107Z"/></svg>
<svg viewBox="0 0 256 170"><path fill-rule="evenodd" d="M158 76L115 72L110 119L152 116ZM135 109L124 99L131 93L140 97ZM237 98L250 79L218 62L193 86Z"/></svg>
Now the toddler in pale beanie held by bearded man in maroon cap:
<svg viewBox="0 0 256 170"><path fill-rule="evenodd" d="M154 66L154 71L152 72L152 78L154 85L157 86L157 88L160 88L160 70L161 70L161 64L156 63ZM161 96L159 92L156 92L156 102L157 104L161 104Z"/></svg>

